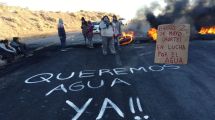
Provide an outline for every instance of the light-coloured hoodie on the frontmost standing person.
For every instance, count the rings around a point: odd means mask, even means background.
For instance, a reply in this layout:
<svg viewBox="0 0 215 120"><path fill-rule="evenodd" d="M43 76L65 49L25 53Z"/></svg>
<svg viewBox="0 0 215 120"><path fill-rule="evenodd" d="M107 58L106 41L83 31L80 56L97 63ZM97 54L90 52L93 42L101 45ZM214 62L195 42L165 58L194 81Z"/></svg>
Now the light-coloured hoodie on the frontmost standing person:
<svg viewBox="0 0 215 120"><path fill-rule="evenodd" d="M102 20L99 24L99 27L101 28L101 36L103 37L113 37L114 31L113 31L113 26L105 24L105 22Z"/></svg>

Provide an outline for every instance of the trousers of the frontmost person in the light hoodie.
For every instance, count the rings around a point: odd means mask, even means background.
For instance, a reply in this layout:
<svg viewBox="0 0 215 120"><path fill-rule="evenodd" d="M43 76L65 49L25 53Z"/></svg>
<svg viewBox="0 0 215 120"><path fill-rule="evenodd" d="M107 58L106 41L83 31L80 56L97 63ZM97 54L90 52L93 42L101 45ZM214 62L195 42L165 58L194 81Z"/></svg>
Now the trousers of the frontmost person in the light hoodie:
<svg viewBox="0 0 215 120"><path fill-rule="evenodd" d="M114 47L114 39L112 37L102 37L102 51L103 51L103 54L107 54L107 49L109 47L110 49L110 52L112 54L116 54L116 50L115 50L115 47Z"/></svg>

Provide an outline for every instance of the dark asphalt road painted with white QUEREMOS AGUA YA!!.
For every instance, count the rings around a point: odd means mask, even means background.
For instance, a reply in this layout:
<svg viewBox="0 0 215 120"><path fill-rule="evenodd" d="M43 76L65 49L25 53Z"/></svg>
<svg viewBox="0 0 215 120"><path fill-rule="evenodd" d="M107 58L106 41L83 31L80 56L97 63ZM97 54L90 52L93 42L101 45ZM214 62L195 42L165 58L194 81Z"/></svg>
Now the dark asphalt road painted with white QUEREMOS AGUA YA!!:
<svg viewBox="0 0 215 120"><path fill-rule="evenodd" d="M49 46L0 70L0 120L214 120L214 46L191 41L187 65L154 64L154 43Z"/></svg>

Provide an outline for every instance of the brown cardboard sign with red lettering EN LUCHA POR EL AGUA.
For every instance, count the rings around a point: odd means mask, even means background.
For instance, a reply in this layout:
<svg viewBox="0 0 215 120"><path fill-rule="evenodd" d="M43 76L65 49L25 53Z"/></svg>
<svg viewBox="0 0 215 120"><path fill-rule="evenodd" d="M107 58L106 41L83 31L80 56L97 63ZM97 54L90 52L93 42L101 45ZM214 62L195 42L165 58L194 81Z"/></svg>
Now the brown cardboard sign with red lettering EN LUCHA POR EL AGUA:
<svg viewBox="0 0 215 120"><path fill-rule="evenodd" d="M159 25L155 63L187 64L189 38L189 24Z"/></svg>

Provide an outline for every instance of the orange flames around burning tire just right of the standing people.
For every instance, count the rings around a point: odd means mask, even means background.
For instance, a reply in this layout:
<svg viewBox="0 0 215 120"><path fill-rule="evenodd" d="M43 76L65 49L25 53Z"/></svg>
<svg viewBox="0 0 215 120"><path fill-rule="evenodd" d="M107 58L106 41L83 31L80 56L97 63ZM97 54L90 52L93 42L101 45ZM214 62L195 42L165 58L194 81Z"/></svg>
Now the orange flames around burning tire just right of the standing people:
<svg viewBox="0 0 215 120"><path fill-rule="evenodd" d="M133 41L134 38L134 32L129 31L129 32L122 32L122 35L119 39L120 45L127 45L130 44Z"/></svg>

